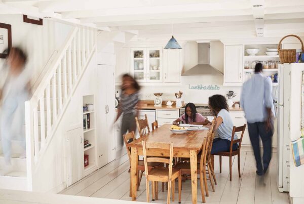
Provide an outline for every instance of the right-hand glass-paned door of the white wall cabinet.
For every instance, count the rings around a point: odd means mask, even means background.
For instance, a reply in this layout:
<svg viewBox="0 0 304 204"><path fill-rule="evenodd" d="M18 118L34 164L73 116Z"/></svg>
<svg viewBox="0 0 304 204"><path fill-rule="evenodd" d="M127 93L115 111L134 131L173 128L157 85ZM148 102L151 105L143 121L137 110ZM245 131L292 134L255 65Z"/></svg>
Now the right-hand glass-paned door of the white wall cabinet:
<svg viewBox="0 0 304 204"><path fill-rule="evenodd" d="M146 48L147 82L158 83L162 77L162 48Z"/></svg>

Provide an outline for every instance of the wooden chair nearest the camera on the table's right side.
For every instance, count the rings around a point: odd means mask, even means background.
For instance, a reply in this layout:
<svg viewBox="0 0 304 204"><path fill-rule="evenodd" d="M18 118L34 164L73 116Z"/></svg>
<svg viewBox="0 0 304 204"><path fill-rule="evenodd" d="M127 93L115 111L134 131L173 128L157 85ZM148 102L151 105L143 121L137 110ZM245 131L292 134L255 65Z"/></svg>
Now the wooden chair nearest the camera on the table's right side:
<svg viewBox="0 0 304 204"><path fill-rule="evenodd" d="M207 137L204 138L202 153L198 163L198 172L200 173L200 184L201 184L201 194L202 201L206 202L204 188L208 189L207 178L206 178L206 155L208 151L208 143L210 140L210 133L207 134ZM191 164L189 162L180 162L175 168L181 171L181 175L191 175Z"/></svg>

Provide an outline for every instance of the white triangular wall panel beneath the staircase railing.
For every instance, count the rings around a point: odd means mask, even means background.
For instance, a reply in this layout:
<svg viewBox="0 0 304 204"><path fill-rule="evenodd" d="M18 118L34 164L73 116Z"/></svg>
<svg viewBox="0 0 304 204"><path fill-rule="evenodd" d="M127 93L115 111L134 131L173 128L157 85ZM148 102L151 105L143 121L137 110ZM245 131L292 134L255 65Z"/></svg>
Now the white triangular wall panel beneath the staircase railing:
<svg viewBox="0 0 304 204"><path fill-rule="evenodd" d="M46 154L41 158L41 165L33 174L33 191L57 193L66 188L66 132L83 128L82 100L85 95L96 95L94 77L96 68L96 55L94 55L70 100Z"/></svg>

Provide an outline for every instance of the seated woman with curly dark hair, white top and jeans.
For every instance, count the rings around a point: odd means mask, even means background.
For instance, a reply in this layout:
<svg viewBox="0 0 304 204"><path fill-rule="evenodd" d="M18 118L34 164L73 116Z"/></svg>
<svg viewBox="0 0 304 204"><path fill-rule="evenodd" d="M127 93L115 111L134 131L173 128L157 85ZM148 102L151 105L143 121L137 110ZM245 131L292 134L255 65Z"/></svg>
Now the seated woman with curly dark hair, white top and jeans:
<svg viewBox="0 0 304 204"><path fill-rule="evenodd" d="M225 97L222 95L213 95L209 97L209 108L213 115L216 116L214 129L217 131L218 138L213 140L211 154L219 151L229 151L233 130L233 121L228 112L228 105ZM237 134L234 140L237 140ZM238 148L238 144L233 145L233 150Z"/></svg>

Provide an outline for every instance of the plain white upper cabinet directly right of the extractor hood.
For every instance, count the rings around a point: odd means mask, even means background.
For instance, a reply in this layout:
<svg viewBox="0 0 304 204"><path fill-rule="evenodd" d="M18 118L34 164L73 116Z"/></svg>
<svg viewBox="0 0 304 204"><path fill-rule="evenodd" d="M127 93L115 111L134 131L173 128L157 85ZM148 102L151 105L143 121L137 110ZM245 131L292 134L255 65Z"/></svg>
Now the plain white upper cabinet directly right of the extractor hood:
<svg viewBox="0 0 304 204"><path fill-rule="evenodd" d="M224 85L243 83L243 45L226 45L224 51Z"/></svg>

